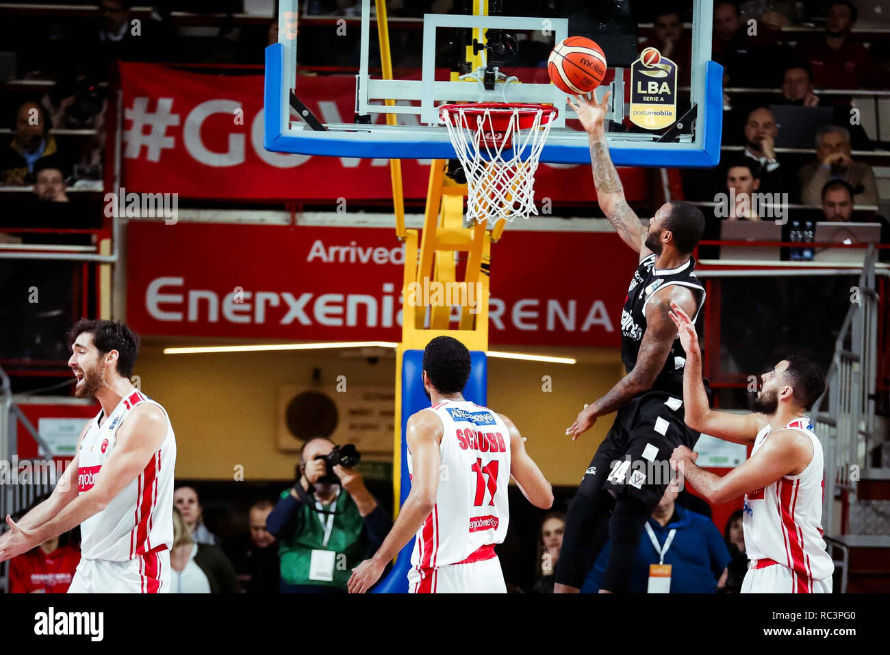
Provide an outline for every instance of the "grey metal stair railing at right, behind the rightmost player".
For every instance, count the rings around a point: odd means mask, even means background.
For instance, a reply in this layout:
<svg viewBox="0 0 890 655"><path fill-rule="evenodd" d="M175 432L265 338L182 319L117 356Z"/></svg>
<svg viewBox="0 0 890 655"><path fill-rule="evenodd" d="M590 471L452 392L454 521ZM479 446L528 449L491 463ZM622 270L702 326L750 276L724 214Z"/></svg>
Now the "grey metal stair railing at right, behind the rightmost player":
<svg viewBox="0 0 890 655"><path fill-rule="evenodd" d="M834 531L834 499L838 491L855 495L855 480L870 468L874 445L875 389L878 371L877 250L866 252L859 283L835 340L826 376L826 391L813 405L813 428L825 458L825 503L822 527ZM854 474L854 471L856 474Z"/></svg>

